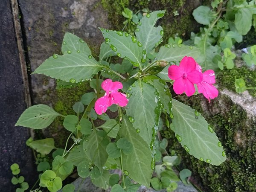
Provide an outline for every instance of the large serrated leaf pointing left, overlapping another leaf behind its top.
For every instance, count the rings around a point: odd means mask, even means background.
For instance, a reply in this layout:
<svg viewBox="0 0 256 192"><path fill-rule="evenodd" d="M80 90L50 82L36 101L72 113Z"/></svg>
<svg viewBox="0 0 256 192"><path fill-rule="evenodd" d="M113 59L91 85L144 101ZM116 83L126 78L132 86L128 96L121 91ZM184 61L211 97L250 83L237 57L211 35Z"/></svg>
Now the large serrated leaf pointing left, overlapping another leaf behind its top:
<svg viewBox="0 0 256 192"><path fill-rule="evenodd" d="M54 57L45 60L32 74L44 74L55 79L78 83L92 78L102 67L85 52L73 51L70 54L54 55Z"/></svg>

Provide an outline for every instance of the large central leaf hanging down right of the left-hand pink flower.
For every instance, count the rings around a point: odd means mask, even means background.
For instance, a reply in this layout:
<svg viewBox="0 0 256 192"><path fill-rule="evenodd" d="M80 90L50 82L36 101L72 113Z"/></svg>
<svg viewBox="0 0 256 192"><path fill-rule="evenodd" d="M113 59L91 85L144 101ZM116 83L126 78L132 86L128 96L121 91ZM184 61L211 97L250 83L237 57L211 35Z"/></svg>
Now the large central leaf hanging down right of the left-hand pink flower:
<svg viewBox="0 0 256 192"><path fill-rule="evenodd" d="M130 95L127 114L133 126L140 130L140 136L148 143L153 139L153 129L157 129L160 116L160 102L157 90L141 79L127 91Z"/></svg>

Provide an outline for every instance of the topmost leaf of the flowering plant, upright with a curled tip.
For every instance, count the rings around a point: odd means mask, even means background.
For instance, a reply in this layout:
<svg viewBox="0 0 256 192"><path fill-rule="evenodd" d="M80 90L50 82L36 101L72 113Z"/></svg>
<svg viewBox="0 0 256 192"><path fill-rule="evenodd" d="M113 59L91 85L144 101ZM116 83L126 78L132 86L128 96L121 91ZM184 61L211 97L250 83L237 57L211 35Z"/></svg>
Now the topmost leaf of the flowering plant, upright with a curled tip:
<svg viewBox="0 0 256 192"><path fill-rule="evenodd" d="M147 16L142 17L137 25L136 37L143 44L143 49L149 53L156 44L161 43L163 37L163 28L161 26L154 27L157 20L162 18L165 11L151 12ZM158 43L160 42L160 43Z"/></svg>

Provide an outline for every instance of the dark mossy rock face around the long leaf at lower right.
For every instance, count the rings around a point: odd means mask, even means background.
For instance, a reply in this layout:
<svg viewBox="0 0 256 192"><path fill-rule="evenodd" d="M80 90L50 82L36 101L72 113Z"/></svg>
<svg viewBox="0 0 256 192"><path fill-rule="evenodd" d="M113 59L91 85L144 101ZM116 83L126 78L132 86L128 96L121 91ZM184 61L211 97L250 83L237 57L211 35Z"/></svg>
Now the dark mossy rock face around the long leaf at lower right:
<svg viewBox="0 0 256 192"><path fill-rule="evenodd" d="M209 165L190 156L177 142L174 134L169 130L162 132L164 137L172 143L170 148L182 158L180 169L192 170L192 180L202 183L203 191L212 192L244 192L255 191L256 185L256 124L247 119L247 114L241 106L234 105L227 96L220 96L208 104L209 111L204 113L200 103L200 96L183 100L192 108L200 111L213 126L224 146L227 160L220 166ZM219 109L216 112L216 109ZM215 112L212 112L215 111ZM211 113L211 114L209 114Z"/></svg>

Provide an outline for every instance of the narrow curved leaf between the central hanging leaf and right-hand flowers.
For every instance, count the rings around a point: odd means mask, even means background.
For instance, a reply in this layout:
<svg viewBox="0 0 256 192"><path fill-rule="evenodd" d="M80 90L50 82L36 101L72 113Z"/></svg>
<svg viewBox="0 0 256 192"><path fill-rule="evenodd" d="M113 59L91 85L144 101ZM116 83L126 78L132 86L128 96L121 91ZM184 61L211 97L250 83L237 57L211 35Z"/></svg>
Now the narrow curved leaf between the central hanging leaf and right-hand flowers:
<svg viewBox="0 0 256 192"><path fill-rule="evenodd" d="M161 108L170 113L172 94L166 82L156 76L147 76L145 80L157 90L160 96Z"/></svg>

